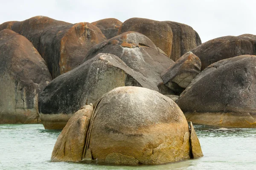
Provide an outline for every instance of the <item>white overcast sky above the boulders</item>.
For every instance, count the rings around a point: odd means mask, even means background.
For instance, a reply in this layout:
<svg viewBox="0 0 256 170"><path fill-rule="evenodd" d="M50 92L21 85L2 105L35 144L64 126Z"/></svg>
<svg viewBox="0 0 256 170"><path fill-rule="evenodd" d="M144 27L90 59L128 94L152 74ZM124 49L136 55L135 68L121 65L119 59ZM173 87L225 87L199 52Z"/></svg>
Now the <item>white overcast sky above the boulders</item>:
<svg viewBox="0 0 256 170"><path fill-rule="evenodd" d="M256 0L0 0L0 24L37 15L69 23L132 17L192 26L202 42L256 34Z"/></svg>

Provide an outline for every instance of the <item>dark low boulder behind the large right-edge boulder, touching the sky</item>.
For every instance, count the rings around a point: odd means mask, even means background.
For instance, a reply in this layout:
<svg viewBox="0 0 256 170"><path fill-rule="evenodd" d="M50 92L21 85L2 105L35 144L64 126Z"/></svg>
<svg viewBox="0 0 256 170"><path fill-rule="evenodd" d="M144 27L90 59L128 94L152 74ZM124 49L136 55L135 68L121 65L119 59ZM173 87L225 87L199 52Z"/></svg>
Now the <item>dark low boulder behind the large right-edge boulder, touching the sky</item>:
<svg viewBox="0 0 256 170"><path fill-rule="evenodd" d="M201 59L201 70L221 59L244 54L256 55L256 36L244 34L238 37L226 36L204 42L192 53Z"/></svg>

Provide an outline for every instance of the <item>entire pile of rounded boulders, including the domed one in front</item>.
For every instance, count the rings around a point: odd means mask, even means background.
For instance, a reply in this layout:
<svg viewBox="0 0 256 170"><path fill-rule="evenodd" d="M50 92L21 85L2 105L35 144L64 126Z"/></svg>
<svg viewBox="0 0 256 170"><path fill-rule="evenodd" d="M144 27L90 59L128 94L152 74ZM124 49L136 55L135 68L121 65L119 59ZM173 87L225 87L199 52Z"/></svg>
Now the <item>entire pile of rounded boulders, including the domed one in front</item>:
<svg viewBox="0 0 256 170"><path fill-rule="evenodd" d="M255 87L252 34L201 44L190 26L144 18L0 25L0 124L63 129L52 161L200 157L187 121L256 127Z"/></svg>

